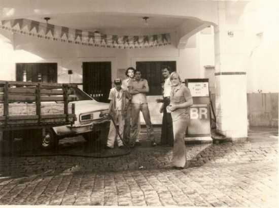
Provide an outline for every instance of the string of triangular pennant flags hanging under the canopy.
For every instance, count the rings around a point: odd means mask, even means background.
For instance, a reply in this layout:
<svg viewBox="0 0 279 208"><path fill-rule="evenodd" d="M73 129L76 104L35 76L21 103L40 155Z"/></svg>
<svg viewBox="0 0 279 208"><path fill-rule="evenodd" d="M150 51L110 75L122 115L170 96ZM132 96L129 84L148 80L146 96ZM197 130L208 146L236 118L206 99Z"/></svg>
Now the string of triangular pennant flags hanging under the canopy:
<svg viewBox="0 0 279 208"><path fill-rule="evenodd" d="M0 28L33 36L36 38L64 43L80 44L107 48L154 48L170 45L170 34L153 34L147 36L117 36L97 31L84 31L29 19L12 19L0 21Z"/></svg>

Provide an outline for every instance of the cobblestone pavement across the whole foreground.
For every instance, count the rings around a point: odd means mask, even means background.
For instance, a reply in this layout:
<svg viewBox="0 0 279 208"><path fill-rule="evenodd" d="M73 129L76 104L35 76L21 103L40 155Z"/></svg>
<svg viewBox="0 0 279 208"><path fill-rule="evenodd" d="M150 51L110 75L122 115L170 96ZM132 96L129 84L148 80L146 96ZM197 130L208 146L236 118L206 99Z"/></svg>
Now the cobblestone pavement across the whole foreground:
<svg viewBox="0 0 279 208"><path fill-rule="evenodd" d="M169 167L171 148L162 146L112 158L2 157L0 204L278 207L276 133L252 129L245 143L187 145L182 170ZM69 141L62 151L81 152L71 144L82 139Z"/></svg>

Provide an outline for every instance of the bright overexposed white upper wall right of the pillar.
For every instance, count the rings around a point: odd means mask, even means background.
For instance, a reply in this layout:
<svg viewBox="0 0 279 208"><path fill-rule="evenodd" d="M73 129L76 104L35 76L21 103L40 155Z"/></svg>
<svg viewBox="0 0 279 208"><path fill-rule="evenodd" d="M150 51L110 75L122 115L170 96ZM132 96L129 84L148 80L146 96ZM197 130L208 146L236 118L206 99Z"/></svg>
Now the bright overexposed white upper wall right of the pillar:
<svg viewBox="0 0 279 208"><path fill-rule="evenodd" d="M278 1L253 1L243 15L249 93L279 92L278 9Z"/></svg>

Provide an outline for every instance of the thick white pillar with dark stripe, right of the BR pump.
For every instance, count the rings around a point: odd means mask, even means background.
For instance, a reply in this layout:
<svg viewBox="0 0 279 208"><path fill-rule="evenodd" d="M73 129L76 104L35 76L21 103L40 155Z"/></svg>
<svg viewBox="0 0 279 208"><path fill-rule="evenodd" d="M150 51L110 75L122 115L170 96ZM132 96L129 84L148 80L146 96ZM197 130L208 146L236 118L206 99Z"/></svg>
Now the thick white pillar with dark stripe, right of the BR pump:
<svg viewBox="0 0 279 208"><path fill-rule="evenodd" d="M235 15L235 16L232 16ZM219 2L215 27L215 88L217 131L231 141L246 140L247 81L241 11Z"/></svg>

